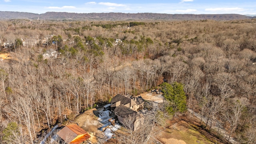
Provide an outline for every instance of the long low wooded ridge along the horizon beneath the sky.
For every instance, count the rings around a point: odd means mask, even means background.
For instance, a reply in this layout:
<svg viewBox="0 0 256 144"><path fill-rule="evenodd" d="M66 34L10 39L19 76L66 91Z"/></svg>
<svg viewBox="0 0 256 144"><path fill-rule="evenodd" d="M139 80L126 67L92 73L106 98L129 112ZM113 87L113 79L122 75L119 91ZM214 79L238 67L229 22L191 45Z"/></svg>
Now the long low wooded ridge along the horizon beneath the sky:
<svg viewBox="0 0 256 144"><path fill-rule="evenodd" d="M240 14L159 14L159 13L69 13L46 12L34 14L29 12L0 11L0 19L37 19L37 20L238 20L251 19L255 16Z"/></svg>

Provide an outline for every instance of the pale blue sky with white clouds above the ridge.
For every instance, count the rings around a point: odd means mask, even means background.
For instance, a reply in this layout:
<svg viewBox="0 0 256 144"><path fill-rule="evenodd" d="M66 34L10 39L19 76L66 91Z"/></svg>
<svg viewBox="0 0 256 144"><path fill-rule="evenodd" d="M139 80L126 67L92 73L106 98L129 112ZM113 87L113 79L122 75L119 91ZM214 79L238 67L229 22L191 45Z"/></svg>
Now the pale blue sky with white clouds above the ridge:
<svg viewBox="0 0 256 144"><path fill-rule="evenodd" d="M256 0L0 0L0 11L256 15Z"/></svg>

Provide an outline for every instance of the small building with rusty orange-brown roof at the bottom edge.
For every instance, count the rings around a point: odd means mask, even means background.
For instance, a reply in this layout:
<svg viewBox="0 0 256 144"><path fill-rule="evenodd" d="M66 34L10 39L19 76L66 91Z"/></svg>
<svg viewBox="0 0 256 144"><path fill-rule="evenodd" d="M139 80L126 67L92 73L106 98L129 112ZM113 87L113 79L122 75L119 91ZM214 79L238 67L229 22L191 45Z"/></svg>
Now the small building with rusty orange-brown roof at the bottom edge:
<svg viewBox="0 0 256 144"><path fill-rule="evenodd" d="M76 124L68 125L57 132L67 144L80 144L91 136Z"/></svg>

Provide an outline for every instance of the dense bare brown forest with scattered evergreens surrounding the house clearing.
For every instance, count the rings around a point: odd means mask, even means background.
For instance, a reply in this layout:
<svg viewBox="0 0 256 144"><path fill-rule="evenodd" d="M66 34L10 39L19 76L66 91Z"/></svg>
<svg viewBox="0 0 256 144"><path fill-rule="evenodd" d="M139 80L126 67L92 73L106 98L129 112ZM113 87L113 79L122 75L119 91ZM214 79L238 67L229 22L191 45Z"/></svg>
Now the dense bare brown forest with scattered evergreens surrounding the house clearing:
<svg viewBox="0 0 256 144"><path fill-rule="evenodd" d="M202 127L222 142L214 120L237 142L255 144L255 34L255 19L2 20L1 45L13 46L0 49L12 57L0 61L0 141L33 143L64 114L166 81L183 84L187 108L208 118ZM44 59L50 48L60 56Z"/></svg>

